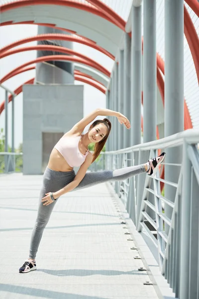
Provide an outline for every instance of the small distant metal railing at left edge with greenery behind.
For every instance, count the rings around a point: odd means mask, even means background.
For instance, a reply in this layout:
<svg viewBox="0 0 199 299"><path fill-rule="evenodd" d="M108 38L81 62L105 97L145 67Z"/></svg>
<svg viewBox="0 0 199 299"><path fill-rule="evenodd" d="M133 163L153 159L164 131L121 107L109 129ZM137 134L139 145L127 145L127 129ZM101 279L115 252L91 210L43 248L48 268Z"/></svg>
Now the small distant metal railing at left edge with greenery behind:
<svg viewBox="0 0 199 299"><path fill-rule="evenodd" d="M0 152L0 173L22 172L22 152Z"/></svg>

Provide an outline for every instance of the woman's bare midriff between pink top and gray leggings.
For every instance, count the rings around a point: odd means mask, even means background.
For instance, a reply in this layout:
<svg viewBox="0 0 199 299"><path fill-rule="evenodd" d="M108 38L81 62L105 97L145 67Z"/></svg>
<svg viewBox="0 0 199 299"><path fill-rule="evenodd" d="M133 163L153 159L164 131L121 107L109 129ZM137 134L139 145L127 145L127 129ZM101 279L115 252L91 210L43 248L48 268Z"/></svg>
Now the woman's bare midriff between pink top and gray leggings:
<svg viewBox="0 0 199 299"><path fill-rule="evenodd" d="M50 154L48 168L55 170L55 171L71 171L73 167L71 167L63 155L57 150L53 149Z"/></svg>

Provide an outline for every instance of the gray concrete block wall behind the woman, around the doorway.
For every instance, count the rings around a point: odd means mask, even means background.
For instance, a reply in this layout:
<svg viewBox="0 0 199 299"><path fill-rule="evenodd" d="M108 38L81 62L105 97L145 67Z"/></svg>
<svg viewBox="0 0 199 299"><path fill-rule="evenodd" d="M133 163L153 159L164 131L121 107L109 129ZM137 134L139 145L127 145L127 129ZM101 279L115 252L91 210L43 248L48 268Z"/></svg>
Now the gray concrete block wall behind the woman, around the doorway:
<svg viewBox="0 0 199 299"><path fill-rule="evenodd" d="M83 118L83 85L23 86L23 174L42 173L42 132L66 133Z"/></svg>

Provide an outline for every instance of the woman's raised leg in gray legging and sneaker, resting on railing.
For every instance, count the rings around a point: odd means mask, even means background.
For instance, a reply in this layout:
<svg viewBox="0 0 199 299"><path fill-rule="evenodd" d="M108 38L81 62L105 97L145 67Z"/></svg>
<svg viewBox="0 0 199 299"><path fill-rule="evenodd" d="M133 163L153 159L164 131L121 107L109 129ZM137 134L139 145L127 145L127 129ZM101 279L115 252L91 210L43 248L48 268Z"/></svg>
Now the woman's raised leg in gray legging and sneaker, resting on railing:
<svg viewBox="0 0 199 299"><path fill-rule="evenodd" d="M115 170L103 170L86 173L80 184L72 191L91 187L107 181L120 181L131 176L147 172L149 175L154 175L160 163L163 162L166 153L162 153L158 157L149 160L145 164L129 166Z"/></svg>

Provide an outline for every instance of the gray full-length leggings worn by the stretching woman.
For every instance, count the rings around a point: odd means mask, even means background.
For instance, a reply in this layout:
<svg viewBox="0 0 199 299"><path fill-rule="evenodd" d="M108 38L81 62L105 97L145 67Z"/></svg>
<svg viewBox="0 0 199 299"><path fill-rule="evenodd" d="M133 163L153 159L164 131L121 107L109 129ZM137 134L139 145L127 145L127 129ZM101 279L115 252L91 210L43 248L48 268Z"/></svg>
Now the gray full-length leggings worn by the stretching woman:
<svg viewBox="0 0 199 299"><path fill-rule="evenodd" d="M97 171L97 172L89 172L86 173L83 180L73 191L91 187L106 181L124 180L133 175L145 171L146 170L144 164L141 164L137 166L124 167L113 171L104 170L104 171ZM74 178L75 178L74 170L62 172L62 171L52 170L48 167L46 168L43 175L43 186L41 188L41 192L39 196L39 209L38 209L37 219L31 236L29 258L35 259L44 228L46 227L46 224L48 223L52 210L57 202L56 200L51 204L44 206L43 202L41 202L41 199L45 196L45 193L56 192L59 189L62 189L70 182L72 182Z"/></svg>

